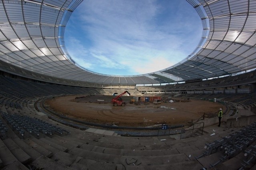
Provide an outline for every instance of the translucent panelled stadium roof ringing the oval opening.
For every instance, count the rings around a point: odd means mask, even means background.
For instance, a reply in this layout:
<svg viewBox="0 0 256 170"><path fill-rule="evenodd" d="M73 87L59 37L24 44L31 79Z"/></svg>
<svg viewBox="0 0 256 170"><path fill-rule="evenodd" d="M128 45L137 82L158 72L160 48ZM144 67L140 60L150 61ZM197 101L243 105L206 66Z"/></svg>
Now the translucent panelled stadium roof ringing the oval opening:
<svg viewBox="0 0 256 170"><path fill-rule="evenodd" d="M136 76L91 72L68 55L65 25L81 2L1 0L0 70L39 80L49 76L90 83L159 84L256 68L255 0L187 0L202 20L198 47L174 66Z"/></svg>

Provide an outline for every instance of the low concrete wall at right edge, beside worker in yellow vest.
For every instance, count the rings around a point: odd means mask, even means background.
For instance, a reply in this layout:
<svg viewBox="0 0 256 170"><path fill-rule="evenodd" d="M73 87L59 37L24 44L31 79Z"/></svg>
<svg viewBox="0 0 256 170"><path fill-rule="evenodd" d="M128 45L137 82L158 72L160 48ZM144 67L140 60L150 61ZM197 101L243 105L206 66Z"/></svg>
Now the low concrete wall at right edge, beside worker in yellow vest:
<svg viewBox="0 0 256 170"><path fill-rule="evenodd" d="M256 121L256 115L227 119L226 127L242 127Z"/></svg>

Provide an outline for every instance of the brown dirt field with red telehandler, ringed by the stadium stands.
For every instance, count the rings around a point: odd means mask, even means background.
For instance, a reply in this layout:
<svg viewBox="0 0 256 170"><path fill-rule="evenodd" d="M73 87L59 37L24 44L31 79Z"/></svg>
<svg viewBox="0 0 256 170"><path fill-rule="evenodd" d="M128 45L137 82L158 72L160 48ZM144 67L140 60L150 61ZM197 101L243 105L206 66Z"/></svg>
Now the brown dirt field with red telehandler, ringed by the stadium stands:
<svg viewBox="0 0 256 170"><path fill-rule="evenodd" d="M190 100L190 102L174 102L134 105L129 102L126 106L112 106L110 100L113 96L87 96L75 100L78 96L64 96L50 99L45 102L56 113L100 124L115 124L128 127L147 127L156 124L180 125L191 120L198 120L204 113L218 113L218 109L225 109L223 105L203 101ZM130 101L132 96L122 96ZM97 103L104 100L106 103ZM178 99L172 99L178 101ZM183 100L183 99L180 99Z"/></svg>

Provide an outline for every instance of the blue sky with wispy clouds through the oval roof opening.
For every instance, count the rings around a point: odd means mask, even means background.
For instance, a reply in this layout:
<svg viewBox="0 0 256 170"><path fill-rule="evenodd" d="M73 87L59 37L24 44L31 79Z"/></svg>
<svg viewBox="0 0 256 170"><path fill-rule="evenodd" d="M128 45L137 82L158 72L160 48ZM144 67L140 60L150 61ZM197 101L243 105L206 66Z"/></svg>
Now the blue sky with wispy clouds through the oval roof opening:
<svg viewBox="0 0 256 170"><path fill-rule="evenodd" d="M66 25L68 53L80 66L109 75L138 75L185 59L202 36L186 0L84 0Z"/></svg>

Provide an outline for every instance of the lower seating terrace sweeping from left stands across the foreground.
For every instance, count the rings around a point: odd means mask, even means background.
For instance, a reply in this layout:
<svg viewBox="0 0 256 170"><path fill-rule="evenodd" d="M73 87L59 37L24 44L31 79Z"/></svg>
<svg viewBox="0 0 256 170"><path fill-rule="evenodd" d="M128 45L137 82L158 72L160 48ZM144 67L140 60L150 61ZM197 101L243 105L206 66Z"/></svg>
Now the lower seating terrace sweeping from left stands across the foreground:
<svg viewBox="0 0 256 170"><path fill-rule="evenodd" d="M255 115L239 117L239 122L244 123L239 125L236 119L224 117L221 127L217 127L216 117L206 119L203 133L186 139L180 139L180 134L145 137L148 132L136 131L133 134L140 136L128 137L120 136L119 130L89 127L61 118L54 121L40 108L40 102L36 103L61 94L100 94L94 88L39 84L1 76L0 89L3 170L256 168L256 129L252 124Z"/></svg>

